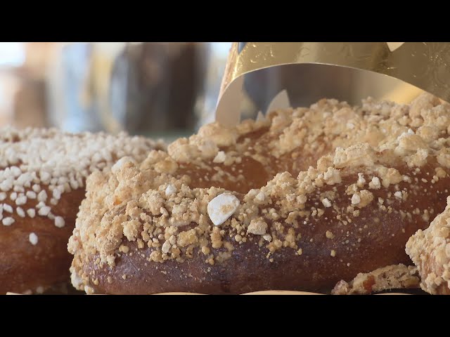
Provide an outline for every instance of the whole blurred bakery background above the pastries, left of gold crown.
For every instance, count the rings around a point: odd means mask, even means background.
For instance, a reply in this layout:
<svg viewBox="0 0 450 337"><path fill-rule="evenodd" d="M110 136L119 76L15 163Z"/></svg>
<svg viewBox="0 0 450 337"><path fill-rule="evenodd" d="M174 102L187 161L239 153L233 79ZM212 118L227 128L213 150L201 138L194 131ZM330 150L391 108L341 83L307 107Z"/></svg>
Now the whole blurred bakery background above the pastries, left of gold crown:
<svg viewBox="0 0 450 337"><path fill-rule="evenodd" d="M230 47L1 42L0 127L189 136L214 119Z"/></svg>

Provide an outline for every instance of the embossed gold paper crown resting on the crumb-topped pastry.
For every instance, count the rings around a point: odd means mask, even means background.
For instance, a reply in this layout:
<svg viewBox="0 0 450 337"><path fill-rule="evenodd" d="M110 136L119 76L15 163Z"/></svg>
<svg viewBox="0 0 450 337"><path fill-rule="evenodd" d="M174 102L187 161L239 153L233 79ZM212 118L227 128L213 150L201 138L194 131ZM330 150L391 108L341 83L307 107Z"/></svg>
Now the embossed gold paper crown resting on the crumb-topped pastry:
<svg viewBox="0 0 450 337"><path fill-rule="evenodd" d="M294 106L325 97L359 104L369 95L409 103L423 91L450 101L450 43L236 42L216 119L231 126L255 118L283 89Z"/></svg>

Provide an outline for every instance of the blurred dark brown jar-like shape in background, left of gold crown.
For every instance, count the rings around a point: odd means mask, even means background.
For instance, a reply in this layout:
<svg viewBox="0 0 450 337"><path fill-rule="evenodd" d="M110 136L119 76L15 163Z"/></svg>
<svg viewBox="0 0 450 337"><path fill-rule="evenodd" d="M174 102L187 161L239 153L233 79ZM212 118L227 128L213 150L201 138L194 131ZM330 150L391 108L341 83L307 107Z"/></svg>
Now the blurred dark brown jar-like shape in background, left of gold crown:
<svg viewBox="0 0 450 337"><path fill-rule="evenodd" d="M113 118L131 133L193 131L206 55L206 44L127 44L113 65Z"/></svg>

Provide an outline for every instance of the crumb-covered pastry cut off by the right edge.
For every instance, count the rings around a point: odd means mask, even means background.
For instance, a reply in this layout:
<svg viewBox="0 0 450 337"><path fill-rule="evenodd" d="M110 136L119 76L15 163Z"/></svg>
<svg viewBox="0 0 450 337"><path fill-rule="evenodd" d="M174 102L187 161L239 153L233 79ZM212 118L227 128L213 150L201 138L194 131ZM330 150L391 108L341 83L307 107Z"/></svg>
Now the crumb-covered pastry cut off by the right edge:
<svg viewBox="0 0 450 337"><path fill-rule="evenodd" d="M406 253L417 266L424 291L450 295L450 197L445 211L430 227L418 230L408 240Z"/></svg>

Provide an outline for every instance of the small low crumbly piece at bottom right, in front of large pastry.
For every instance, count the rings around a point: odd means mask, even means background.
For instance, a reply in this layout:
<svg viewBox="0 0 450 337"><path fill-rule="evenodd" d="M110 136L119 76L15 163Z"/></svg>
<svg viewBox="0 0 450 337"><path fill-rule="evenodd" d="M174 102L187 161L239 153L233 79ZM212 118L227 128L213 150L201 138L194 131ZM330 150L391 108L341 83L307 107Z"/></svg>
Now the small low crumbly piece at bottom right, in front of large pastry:
<svg viewBox="0 0 450 337"><path fill-rule="evenodd" d="M419 287L417 268L406 265L388 265L373 270L360 272L351 282L344 280L335 285L333 295L367 295L390 289L416 289Z"/></svg>

